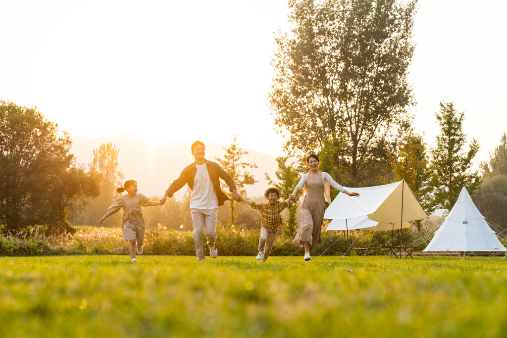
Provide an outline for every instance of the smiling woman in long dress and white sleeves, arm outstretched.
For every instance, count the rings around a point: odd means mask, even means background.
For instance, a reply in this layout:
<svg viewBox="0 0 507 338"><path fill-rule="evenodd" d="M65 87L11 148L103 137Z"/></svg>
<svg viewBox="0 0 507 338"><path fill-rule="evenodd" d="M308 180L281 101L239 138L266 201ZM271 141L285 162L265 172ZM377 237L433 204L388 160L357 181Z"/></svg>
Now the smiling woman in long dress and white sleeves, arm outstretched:
<svg viewBox="0 0 507 338"><path fill-rule="evenodd" d="M306 158L306 165L310 170L308 173L303 174L290 198L295 200L298 191L303 189L301 227L292 243L296 246L305 247L304 261L309 262L310 252L318 243L322 243L320 231L324 219L325 202L331 203L330 186L348 196L359 196L359 194L349 193L343 186L335 182L330 174L318 170L319 159L317 155L310 154Z"/></svg>

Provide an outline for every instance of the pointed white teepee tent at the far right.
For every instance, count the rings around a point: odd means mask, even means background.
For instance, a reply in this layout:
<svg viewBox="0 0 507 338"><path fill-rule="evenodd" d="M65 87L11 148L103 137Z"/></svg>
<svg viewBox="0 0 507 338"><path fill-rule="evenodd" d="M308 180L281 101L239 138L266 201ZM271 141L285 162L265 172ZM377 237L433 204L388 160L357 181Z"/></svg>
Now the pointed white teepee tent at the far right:
<svg viewBox="0 0 507 338"><path fill-rule="evenodd" d="M456 204L422 251L506 251L463 187Z"/></svg>

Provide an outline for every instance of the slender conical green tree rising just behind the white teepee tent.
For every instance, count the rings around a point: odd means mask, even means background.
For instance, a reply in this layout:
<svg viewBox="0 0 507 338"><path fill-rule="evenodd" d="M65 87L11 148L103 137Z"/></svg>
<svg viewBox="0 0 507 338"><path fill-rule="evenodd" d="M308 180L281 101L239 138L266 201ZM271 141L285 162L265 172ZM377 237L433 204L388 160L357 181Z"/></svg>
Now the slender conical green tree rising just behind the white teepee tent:
<svg viewBox="0 0 507 338"><path fill-rule="evenodd" d="M481 185L479 172L472 172L472 159L479 152L479 143L472 139L470 148L464 152L466 134L462 123L464 112L458 113L452 102L440 102L440 110L435 115L442 132L437 136L437 147L431 150L431 185L434 189L431 208L451 210L456 203L462 187L470 196Z"/></svg>

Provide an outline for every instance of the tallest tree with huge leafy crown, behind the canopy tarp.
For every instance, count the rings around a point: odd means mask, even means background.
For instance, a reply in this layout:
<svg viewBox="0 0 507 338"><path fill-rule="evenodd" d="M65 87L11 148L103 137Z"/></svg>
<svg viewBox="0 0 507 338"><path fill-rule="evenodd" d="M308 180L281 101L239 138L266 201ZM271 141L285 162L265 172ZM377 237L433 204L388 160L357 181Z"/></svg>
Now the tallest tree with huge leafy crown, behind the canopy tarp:
<svg viewBox="0 0 507 338"><path fill-rule="evenodd" d="M327 140L344 184L384 180L386 154L408 131L416 1L291 0L290 33L276 36L270 92L285 146L318 152ZM342 145L343 144L343 145ZM340 159L340 161L339 161Z"/></svg>

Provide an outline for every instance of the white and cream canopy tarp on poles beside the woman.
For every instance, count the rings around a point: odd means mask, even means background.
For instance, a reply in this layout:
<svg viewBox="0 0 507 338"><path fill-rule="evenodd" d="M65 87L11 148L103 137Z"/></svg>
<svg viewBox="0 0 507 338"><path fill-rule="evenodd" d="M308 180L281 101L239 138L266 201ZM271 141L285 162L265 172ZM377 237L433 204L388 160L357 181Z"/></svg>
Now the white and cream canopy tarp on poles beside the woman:
<svg viewBox="0 0 507 338"><path fill-rule="evenodd" d="M345 189L360 196L339 193L325 210L324 218L332 219L326 230L394 230L400 225L404 229L410 228L409 221L428 217L405 180Z"/></svg>

